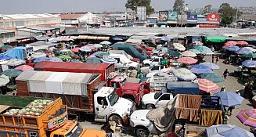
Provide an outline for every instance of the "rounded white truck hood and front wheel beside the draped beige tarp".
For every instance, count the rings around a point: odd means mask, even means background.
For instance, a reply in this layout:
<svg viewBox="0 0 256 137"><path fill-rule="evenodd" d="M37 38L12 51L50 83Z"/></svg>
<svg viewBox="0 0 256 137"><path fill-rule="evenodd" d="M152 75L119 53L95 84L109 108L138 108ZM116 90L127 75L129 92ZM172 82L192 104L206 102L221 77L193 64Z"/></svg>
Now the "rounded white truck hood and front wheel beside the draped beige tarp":
<svg viewBox="0 0 256 137"><path fill-rule="evenodd" d="M130 125L138 137L148 136L153 129L153 123L146 118L150 110L135 110L130 117Z"/></svg>

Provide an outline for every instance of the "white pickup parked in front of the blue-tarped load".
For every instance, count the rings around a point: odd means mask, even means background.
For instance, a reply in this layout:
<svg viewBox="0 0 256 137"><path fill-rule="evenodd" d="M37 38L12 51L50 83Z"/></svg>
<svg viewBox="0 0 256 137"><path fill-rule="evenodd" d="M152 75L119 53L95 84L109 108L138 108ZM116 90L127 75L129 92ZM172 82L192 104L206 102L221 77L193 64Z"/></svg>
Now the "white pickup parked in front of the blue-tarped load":
<svg viewBox="0 0 256 137"><path fill-rule="evenodd" d="M152 110L160 106L165 106L171 99L173 99L173 93L166 92L166 90L150 92L142 97L142 108Z"/></svg>

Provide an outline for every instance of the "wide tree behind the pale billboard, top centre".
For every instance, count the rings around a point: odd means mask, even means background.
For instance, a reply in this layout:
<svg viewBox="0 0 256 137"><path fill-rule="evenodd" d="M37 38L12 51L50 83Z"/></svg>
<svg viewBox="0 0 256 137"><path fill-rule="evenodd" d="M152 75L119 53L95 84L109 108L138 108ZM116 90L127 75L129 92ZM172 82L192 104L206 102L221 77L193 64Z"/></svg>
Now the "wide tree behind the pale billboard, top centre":
<svg viewBox="0 0 256 137"><path fill-rule="evenodd" d="M146 15L154 13L155 9L150 5L151 0L128 0L125 4L127 9L132 9L135 11L137 6L146 6Z"/></svg>

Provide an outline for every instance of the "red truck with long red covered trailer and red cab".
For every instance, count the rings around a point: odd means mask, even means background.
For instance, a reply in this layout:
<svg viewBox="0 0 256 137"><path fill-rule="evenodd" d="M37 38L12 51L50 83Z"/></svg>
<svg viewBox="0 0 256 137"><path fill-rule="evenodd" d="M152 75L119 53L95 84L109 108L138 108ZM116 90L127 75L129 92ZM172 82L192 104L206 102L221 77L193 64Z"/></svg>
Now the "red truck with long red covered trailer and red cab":
<svg viewBox="0 0 256 137"><path fill-rule="evenodd" d="M101 81L106 81L106 85L116 88L117 95L130 99L136 104L140 104L143 91L138 83L126 82L124 76L114 76L108 78L111 72L114 72L114 64L109 63L65 63L43 61L34 66L34 70L53 71L53 72L74 72L101 74Z"/></svg>

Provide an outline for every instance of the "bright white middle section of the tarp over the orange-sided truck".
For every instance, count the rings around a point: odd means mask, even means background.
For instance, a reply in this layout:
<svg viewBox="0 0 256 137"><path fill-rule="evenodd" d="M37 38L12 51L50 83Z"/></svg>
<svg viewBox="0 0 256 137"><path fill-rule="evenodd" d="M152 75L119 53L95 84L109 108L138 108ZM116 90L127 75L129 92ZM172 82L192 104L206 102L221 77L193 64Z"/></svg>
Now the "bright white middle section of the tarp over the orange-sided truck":
<svg viewBox="0 0 256 137"><path fill-rule="evenodd" d="M67 77L67 72L52 72L45 80L45 88L47 93L63 94L62 81Z"/></svg>

